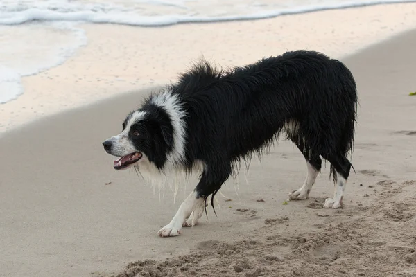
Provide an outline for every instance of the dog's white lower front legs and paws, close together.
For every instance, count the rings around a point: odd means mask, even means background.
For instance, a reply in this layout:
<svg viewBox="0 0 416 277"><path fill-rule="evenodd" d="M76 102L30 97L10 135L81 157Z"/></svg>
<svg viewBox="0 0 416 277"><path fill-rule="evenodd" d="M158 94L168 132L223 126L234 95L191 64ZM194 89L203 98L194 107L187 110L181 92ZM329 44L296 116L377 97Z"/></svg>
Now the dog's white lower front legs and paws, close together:
<svg viewBox="0 0 416 277"><path fill-rule="evenodd" d="M192 212L199 215L201 207L205 207L205 199L198 196L196 190L193 190L187 199L182 202L171 222L160 229L157 234L161 237L174 237L180 235L184 222Z"/></svg>

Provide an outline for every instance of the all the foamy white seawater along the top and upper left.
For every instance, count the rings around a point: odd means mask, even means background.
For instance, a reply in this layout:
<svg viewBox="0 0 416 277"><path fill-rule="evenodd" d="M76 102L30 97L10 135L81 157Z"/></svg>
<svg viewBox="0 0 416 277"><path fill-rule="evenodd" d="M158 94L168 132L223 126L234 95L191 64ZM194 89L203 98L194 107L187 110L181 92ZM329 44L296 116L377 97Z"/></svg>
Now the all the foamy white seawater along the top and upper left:
<svg viewBox="0 0 416 277"><path fill-rule="evenodd" d="M80 22L166 26L416 0L0 0L0 104L87 44Z"/></svg>

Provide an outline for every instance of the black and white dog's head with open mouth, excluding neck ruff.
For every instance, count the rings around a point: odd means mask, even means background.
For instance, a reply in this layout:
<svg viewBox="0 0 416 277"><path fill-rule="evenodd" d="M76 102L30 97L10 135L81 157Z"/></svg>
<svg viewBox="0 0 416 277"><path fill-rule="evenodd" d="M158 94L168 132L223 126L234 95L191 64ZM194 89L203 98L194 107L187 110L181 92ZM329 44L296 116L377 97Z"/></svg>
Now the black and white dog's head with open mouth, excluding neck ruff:
<svg viewBox="0 0 416 277"><path fill-rule="evenodd" d="M173 148L173 125L166 110L148 105L130 113L120 134L103 142L105 152L119 157L114 169L121 170L141 163L163 168Z"/></svg>

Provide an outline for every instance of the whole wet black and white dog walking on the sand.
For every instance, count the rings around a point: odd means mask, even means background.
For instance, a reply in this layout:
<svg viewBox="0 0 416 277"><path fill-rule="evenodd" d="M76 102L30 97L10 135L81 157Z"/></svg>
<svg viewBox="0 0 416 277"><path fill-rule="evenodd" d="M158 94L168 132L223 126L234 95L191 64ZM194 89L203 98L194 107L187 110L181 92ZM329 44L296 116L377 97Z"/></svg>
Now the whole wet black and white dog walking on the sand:
<svg viewBox="0 0 416 277"><path fill-rule="evenodd" d="M199 183L158 234L193 226L242 159L261 154L286 134L304 154L303 186L291 199L306 199L321 169L331 163L333 195L324 208L340 208L352 164L356 83L338 60L315 51L290 51L255 64L221 71L200 62L160 93L148 97L103 142L114 168L134 166L157 177L166 171L200 170Z"/></svg>

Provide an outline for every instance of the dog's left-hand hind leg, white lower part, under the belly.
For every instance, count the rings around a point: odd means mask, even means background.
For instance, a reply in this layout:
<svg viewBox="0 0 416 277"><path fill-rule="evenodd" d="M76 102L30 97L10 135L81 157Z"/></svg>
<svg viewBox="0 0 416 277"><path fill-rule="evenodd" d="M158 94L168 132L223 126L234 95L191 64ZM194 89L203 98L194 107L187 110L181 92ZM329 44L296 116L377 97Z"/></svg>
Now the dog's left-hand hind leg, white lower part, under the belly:
<svg viewBox="0 0 416 277"><path fill-rule="evenodd" d="M303 186L298 190L293 190L289 193L289 198L292 200L302 200L307 199L309 197L309 193L311 193L312 186L315 184L316 177L318 176L318 172L320 172L322 166L322 159L320 159L320 155L316 152L310 150L309 148L305 148L302 140L296 140L293 142L304 155L308 171L306 172L306 179Z"/></svg>

